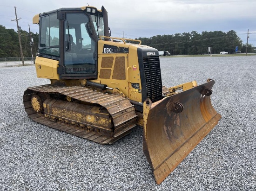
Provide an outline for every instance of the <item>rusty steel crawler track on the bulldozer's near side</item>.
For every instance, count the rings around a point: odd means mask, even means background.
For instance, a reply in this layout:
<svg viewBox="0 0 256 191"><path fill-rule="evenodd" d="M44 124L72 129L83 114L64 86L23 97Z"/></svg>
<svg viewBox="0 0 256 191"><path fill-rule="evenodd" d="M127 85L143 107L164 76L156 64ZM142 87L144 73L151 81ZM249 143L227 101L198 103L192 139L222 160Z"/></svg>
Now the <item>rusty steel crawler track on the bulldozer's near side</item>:
<svg viewBox="0 0 256 191"><path fill-rule="evenodd" d="M41 112L36 112L32 108L31 98L34 95L39 95L43 98L44 110ZM59 97L72 98L72 101L67 102L63 99L61 101L58 100ZM134 106L129 102L128 98L120 95L103 94L86 87L66 87L52 84L31 87L24 92L23 102L27 115L33 121L100 144L111 144L129 134L130 129L136 126L137 115L135 114ZM89 113L90 111L87 111L87 114L94 115L95 118L99 115L99 119L105 121L109 119L111 127L99 127L86 121L79 122L63 116L59 117L46 113L46 105L49 102L59 102L59 105L64 110L70 108L70 105L76 105L79 108L96 107L106 109L105 114ZM77 107L74 108L76 109ZM81 111L78 114L83 113L85 111ZM85 117L82 117L82 119L85 119Z"/></svg>

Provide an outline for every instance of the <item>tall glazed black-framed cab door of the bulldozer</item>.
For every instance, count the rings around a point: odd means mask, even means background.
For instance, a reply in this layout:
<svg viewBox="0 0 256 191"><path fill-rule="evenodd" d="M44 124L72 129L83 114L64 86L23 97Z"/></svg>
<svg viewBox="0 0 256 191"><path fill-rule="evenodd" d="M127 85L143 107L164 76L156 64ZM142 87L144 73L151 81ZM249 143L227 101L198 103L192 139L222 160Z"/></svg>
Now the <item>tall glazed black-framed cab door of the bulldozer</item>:
<svg viewBox="0 0 256 191"><path fill-rule="evenodd" d="M61 79L97 78L97 38L89 16L83 12L65 13L62 20ZM61 27L60 27L61 28Z"/></svg>

